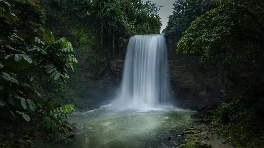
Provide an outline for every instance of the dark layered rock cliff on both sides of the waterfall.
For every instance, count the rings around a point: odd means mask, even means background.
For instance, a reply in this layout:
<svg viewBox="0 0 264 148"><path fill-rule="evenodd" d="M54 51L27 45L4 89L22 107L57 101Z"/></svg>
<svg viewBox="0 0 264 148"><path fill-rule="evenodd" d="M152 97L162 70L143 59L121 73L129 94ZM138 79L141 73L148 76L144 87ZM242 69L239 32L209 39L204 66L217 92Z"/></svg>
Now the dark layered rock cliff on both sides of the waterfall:
<svg viewBox="0 0 264 148"><path fill-rule="evenodd" d="M89 96L94 104L102 104L118 94L125 50L122 55L119 58L101 58L96 68L99 73L90 74L93 78L87 82L83 98ZM261 79L257 77L261 74L256 75L261 71L247 61L238 60L231 65L224 62L216 64L215 59L201 62L200 55L176 54L173 48L168 50L168 63L173 105L184 109L214 107L237 91L235 89Z"/></svg>

